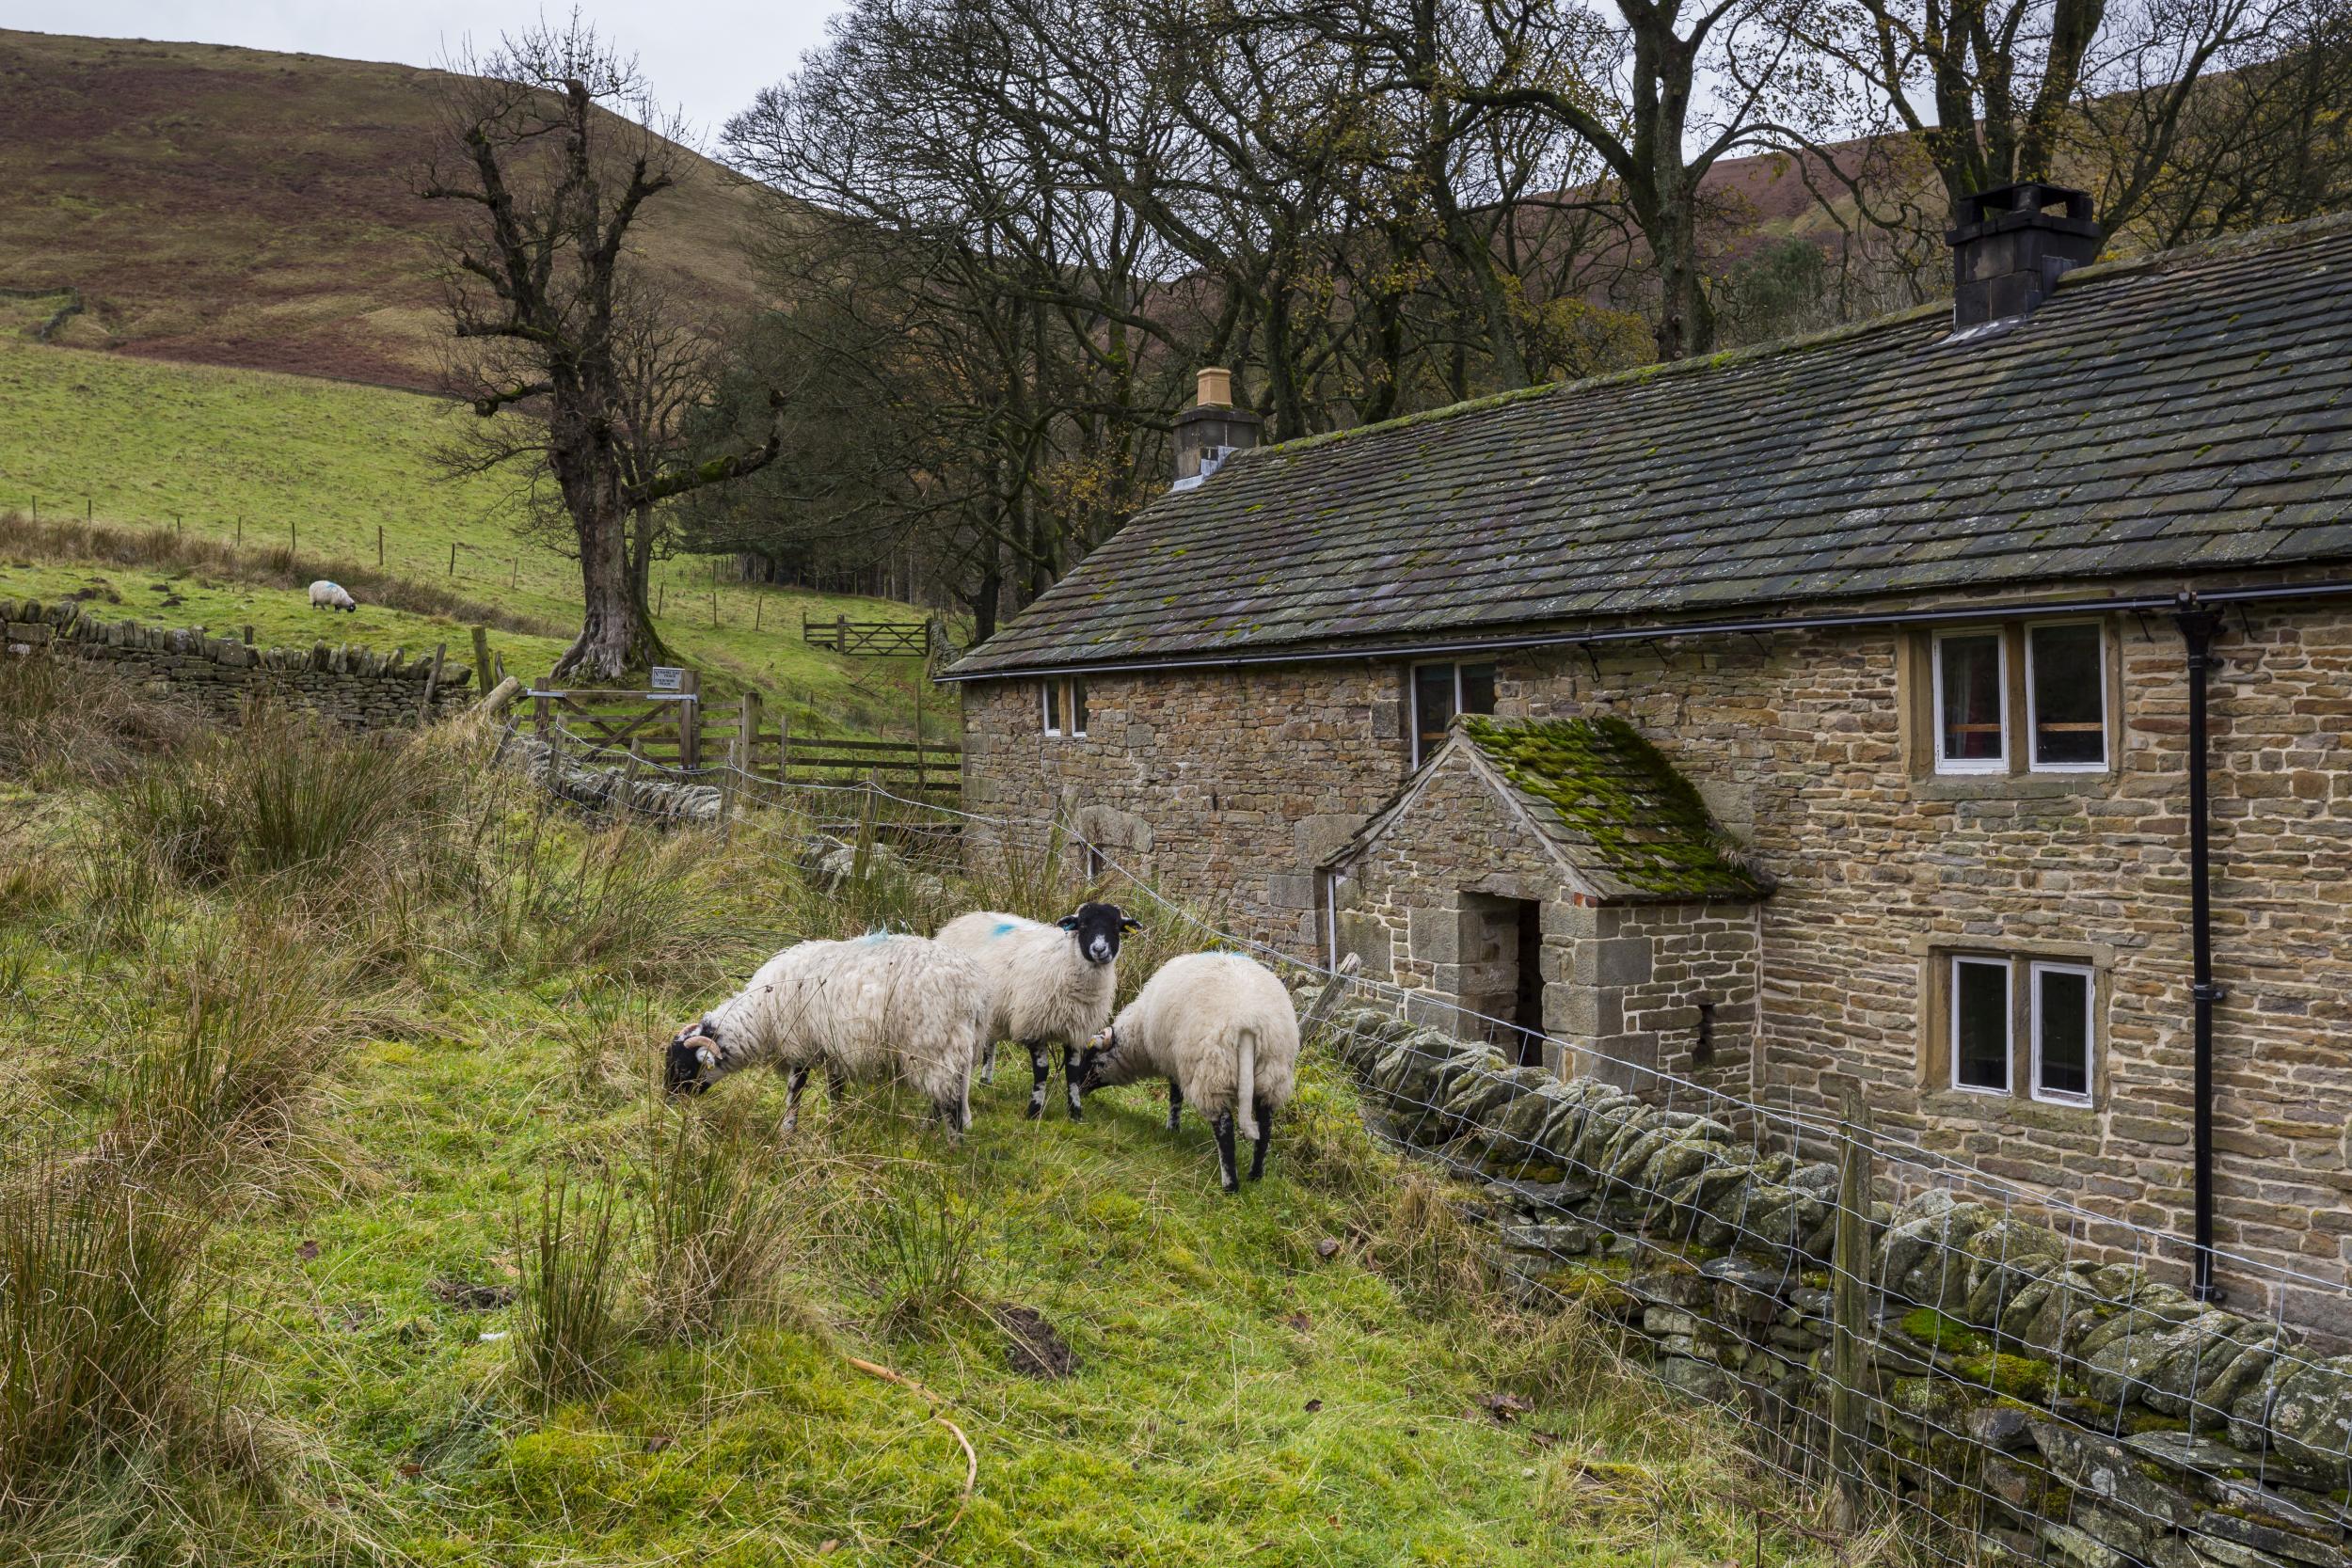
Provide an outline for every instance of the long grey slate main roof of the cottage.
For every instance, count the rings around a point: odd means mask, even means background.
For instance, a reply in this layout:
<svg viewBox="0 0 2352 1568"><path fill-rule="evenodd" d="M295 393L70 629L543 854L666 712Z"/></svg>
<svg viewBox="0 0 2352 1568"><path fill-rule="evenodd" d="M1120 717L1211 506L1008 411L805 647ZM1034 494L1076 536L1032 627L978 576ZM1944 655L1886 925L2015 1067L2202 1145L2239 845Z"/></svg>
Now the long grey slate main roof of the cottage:
<svg viewBox="0 0 2352 1568"><path fill-rule="evenodd" d="M2352 221L1228 461L950 677L2352 559Z"/></svg>

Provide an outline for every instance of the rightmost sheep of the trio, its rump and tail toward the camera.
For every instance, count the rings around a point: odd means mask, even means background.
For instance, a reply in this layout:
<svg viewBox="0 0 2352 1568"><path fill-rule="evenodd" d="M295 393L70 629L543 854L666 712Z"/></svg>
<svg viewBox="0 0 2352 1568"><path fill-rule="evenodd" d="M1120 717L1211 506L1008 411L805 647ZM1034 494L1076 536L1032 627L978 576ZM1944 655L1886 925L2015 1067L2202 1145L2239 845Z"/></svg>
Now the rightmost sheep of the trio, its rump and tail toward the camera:
<svg viewBox="0 0 2352 1568"><path fill-rule="evenodd" d="M1240 952L1188 952L1160 966L1077 1063L1080 1093L1169 1081L1169 1131L1185 1100L1216 1133L1216 1173L1240 1192L1232 1133L1249 1138L1249 1180L1298 1074L1298 1013L1275 971Z"/></svg>

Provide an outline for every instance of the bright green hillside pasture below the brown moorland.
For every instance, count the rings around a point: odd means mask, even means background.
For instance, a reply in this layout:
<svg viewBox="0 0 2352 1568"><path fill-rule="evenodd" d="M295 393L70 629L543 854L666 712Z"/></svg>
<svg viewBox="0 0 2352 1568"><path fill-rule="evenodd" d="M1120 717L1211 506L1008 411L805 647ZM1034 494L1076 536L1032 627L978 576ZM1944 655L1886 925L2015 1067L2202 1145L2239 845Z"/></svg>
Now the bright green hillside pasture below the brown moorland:
<svg viewBox="0 0 2352 1568"><path fill-rule="evenodd" d="M242 545L256 562L289 548L336 578L376 569L381 529L386 574L562 628L555 642L501 637L515 672L543 675L579 625L579 569L515 531L515 484L440 475L435 447L452 421L470 414L386 388L45 348L21 336L31 310L9 320L19 331L0 334L0 515L176 529ZM701 559L659 562L654 571L663 639L706 670L708 689L755 684L826 729L903 733L913 724L915 661L842 661L800 639L802 616L913 618L908 607L790 588L713 590ZM103 562L0 555L0 592L16 597L61 597L92 588L92 578L106 578L143 618L158 618L148 607L167 597L153 578L125 583ZM322 630L327 616L313 616L299 592L226 574L209 585L169 585L186 599L179 614L191 625L254 625L256 635L268 628L296 642L468 646L461 625L419 625L381 607L334 616ZM946 715L938 701L929 705L938 733Z"/></svg>

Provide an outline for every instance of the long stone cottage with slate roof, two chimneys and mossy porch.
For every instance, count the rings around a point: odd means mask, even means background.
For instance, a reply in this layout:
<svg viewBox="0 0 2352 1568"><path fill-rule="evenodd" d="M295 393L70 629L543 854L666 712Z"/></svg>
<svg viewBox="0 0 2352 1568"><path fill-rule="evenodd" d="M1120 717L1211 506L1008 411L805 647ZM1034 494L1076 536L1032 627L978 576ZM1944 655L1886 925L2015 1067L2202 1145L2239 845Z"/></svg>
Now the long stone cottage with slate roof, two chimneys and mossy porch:
<svg viewBox="0 0 2352 1568"><path fill-rule="evenodd" d="M1195 409L948 672L969 809L2340 1312L2352 223L1973 216L1950 308L1263 449Z"/></svg>

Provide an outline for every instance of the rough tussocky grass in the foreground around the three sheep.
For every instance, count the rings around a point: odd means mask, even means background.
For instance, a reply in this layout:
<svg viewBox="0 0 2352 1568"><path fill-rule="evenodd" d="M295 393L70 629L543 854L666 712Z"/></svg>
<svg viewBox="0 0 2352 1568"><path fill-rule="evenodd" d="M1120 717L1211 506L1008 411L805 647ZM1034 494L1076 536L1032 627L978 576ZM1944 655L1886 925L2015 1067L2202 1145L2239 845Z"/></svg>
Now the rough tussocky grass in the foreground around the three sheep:
<svg viewBox="0 0 2352 1568"><path fill-rule="evenodd" d="M884 1086L790 1138L771 1074L654 1088L779 943L1047 912L1040 867L828 896L743 853L790 820L583 825L449 736L158 741L96 682L0 663L42 1041L0 1237L68 1307L0 1291L40 1373L0 1559L1853 1561L1597 1328L1491 1300L1329 1063L1237 1199L1143 1086L1030 1124L1007 1074L962 1145Z"/></svg>

